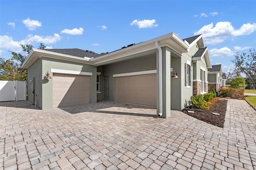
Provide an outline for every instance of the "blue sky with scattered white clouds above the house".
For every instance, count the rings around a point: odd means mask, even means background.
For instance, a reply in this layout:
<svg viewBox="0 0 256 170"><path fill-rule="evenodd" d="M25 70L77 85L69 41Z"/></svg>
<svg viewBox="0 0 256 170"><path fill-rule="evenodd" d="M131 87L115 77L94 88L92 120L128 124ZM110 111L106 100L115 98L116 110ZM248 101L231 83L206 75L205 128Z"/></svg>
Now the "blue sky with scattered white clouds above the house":
<svg viewBox="0 0 256 170"><path fill-rule="evenodd" d="M256 49L256 1L0 0L0 57L35 48L111 52L174 32L202 34L212 65L232 65L238 51Z"/></svg>

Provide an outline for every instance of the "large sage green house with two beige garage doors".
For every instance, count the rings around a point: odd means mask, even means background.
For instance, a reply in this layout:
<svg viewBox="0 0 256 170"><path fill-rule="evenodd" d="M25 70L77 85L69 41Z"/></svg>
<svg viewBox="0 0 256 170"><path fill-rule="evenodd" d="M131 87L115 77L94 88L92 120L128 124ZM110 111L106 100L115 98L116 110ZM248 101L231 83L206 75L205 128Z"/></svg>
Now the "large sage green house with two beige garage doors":
<svg viewBox="0 0 256 170"><path fill-rule="evenodd" d="M170 33L105 55L33 48L22 67L28 69L28 100L41 109L104 99L155 106L168 118L171 109L181 110L192 95L208 91L211 63L202 35L182 40Z"/></svg>

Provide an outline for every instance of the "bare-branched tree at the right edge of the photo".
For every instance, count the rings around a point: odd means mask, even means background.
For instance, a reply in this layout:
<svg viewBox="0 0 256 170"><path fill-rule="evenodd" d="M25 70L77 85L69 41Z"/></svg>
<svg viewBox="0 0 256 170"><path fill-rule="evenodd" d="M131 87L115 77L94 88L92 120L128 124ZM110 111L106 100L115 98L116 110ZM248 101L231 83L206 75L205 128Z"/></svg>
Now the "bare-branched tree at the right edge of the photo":
<svg viewBox="0 0 256 170"><path fill-rule="evenodd" d="M235 59L231 60L236 67L236 72L242 73L246 76L248 81L252 82L256 87L256 51L249 49L249 54L243 53L239 55L238 52L234 55Z"/></svg>

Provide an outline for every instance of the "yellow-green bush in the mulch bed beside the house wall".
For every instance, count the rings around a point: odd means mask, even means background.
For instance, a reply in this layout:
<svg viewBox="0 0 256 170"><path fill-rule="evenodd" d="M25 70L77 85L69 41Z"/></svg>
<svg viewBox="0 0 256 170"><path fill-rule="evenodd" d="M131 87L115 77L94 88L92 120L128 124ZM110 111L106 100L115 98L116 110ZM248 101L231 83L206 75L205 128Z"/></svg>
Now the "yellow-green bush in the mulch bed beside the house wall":
<svg viewBox="0 0 256 170"><path fill-rule="evenodd" d="M217 102L216 93L210 92L204 95L191 96L191 102L198 109L209 110L210 106Z"/></svg>

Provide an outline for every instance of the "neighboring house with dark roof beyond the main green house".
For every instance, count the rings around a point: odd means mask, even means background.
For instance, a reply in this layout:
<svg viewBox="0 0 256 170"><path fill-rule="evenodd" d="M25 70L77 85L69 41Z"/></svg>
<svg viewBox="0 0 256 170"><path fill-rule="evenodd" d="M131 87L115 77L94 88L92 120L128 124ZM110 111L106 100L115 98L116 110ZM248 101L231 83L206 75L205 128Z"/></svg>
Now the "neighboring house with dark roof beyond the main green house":
<svg viewBox="0 0 256 170"><path fill-rule="evenodd" d="M209 91L218 91L221 86L226 86L226 74L222 73L222 65L212 65L208 69Z"/></svg>

